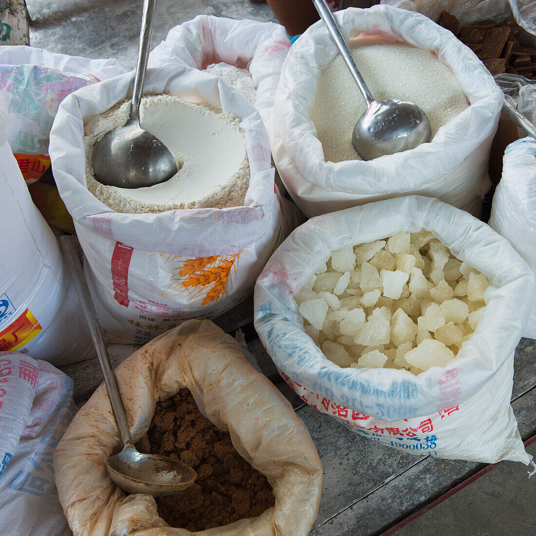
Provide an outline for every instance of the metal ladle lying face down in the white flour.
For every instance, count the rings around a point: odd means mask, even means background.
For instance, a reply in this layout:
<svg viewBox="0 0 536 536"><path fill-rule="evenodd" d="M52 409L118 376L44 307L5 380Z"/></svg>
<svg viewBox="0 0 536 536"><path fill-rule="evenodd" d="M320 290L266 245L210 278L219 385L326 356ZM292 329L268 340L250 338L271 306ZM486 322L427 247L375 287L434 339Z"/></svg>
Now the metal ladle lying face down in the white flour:
<svg viewBox="0 0 536 536"><path fill-rule="evenodd" d="M139 54L129 117L118 129L107 132L93 146L91 165L102 184L118 188L143 188L169 180L177 166L168 148L139 123L139 103L153 33L157 0L144 0Z"/></svg>

